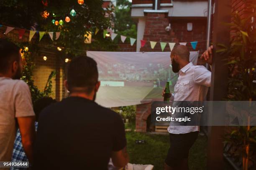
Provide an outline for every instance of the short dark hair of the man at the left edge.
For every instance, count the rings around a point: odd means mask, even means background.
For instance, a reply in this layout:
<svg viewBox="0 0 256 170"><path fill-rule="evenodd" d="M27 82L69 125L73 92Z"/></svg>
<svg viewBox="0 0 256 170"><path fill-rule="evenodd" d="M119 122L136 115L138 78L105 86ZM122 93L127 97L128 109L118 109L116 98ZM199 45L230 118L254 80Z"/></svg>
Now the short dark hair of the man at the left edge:
<svg viewBox="0 0 256 170"><path fill-rule="evenodd" d="M14 61L20 63L20 47L9 40L0 38L0 72L6 73Z"/></svg>

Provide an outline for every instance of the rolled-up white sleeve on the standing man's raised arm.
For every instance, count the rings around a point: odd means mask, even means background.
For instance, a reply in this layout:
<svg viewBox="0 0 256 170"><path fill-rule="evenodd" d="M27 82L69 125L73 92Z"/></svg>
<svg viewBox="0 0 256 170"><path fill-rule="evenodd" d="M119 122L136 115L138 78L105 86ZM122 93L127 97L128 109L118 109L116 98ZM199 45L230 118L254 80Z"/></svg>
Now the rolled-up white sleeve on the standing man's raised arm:
<svg viewBox="0 0 256 170"><path fill-rule="evenodd" d="M211 75L212 73L207 70L204 66L198 66L194 69L194 81L197 84L204 85L207 87L211 86Z"/></svg>

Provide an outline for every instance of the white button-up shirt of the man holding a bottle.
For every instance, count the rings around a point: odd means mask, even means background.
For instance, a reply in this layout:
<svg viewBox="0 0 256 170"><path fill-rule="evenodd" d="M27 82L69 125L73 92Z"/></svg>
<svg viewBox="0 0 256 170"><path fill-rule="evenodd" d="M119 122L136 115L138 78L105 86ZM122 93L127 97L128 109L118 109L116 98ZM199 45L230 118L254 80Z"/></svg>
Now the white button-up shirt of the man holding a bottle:
<svg viewBox="0 0 256 170"><path fill-rule="evenodd" d="M189 62L179 70L179 77L174 86L173 101L203 101L211 84L211 72L202 65ZM199 131L199 126L172 126L168 132L174 134Z"/></svg>

